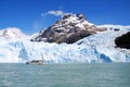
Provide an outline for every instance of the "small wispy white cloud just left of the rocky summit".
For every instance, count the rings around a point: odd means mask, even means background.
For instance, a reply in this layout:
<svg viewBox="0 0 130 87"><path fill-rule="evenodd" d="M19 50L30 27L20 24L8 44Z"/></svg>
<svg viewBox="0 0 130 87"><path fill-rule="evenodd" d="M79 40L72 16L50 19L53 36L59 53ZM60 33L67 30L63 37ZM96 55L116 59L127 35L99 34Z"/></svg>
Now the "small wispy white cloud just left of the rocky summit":
<svg viewBox="0 0 130 87"><path fill-rule="evenodd" d="M44 16L44 15L64 16L65 14L67 13L61 10L57 10L57 11L52 10L52 11L48 11L47 13L42 13L41 16Z"/></svg>

